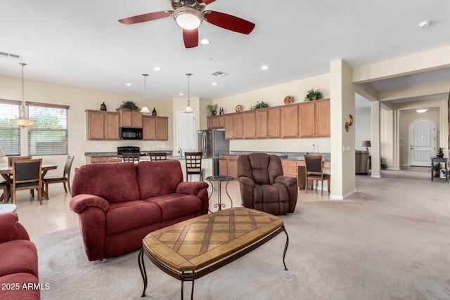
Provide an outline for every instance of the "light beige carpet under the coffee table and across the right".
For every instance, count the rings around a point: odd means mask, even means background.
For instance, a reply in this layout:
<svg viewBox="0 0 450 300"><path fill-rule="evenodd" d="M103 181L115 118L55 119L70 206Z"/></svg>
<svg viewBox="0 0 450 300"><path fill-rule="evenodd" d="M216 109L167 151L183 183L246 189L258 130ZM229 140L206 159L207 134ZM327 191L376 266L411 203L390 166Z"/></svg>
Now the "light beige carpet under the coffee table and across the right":
<svg viewBox="0 0 450 300"><path fill-rule="evenodd" d="M343 201L298 202L285 235L195 281L195 299L450 299L449 185L428 173L357 177ZM302 192L300 192L302 193ZM317 192L315 192L317 193ZM33 237L42 299L141 299L138 251L89 262L78 228ZM146 259L145 299L181 282ZM185 296L191 285L185 285Z"/></svg>

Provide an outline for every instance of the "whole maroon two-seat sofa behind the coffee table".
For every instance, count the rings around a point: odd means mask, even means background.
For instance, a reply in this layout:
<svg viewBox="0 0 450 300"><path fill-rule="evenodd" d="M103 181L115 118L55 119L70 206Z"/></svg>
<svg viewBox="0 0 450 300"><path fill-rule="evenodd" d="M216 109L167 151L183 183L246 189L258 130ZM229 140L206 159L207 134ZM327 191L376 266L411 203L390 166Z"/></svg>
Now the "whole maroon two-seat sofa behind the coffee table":
<svg viewBox="0 0 450 300"><path fill-rule="evenodd" d="M184 182L177 160L86 164L76 168L70 209L89 261L142 247L148 233L207 214L205 182Z"/></svg>

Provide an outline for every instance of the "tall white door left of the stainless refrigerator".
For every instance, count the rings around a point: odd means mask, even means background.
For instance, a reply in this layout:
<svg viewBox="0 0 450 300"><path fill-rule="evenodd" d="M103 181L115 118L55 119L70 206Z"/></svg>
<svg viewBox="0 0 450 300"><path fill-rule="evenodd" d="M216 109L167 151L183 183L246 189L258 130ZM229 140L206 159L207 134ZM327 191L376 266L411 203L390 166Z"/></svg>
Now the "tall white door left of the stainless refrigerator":
<svg viewBox="0 0 450 300"><path fill-rule="evenodd" d="M195 152L195 112L186 114L176 113L177 119L177 145L184 152Z"/></svg>

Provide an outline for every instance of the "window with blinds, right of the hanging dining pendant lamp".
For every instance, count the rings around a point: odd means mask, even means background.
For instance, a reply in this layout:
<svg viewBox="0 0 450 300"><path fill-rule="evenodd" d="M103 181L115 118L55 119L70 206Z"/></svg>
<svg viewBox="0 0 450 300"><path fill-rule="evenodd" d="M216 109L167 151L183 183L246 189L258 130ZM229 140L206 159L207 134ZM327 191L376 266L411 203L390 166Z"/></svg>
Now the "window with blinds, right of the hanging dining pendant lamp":
<svg viewBox="0 0 450 300"><path fill-rule="evenodd" d="M28 116L36 121L28 129L29 155L67 155L68 106L27 102Z"/></svg>

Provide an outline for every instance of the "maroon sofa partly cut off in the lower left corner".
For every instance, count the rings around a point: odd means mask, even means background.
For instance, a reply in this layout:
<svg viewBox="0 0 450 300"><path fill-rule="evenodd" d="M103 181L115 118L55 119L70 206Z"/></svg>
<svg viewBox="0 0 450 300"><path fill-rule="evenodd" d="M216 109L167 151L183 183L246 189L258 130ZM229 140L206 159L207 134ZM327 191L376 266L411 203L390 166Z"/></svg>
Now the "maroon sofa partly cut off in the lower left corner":
<svg viewBox="0 0 450 300"><path fill-rule="evenodd" d="M41 299L36 246L13 212L0 214L0 299Z"/></svg>

